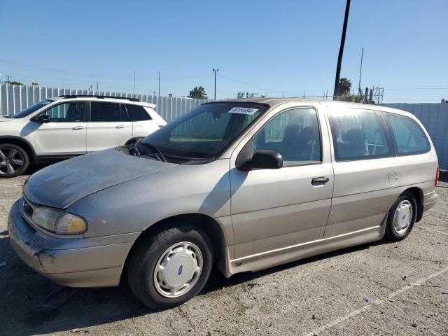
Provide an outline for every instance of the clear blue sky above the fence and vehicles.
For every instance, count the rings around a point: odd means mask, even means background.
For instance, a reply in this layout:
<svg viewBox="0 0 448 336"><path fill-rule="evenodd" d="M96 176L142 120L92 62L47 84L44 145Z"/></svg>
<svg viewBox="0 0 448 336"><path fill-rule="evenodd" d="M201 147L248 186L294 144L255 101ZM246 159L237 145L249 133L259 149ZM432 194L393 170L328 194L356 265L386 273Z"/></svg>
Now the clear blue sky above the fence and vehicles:
<svg viewBox="0 0 448 336"><path fill-rule="evenodd" d="M40 85L213 97L332 92L345 1L0 1L0 73ZM448 1L352 0L342 77L385 102L448 99Z"/></svg>

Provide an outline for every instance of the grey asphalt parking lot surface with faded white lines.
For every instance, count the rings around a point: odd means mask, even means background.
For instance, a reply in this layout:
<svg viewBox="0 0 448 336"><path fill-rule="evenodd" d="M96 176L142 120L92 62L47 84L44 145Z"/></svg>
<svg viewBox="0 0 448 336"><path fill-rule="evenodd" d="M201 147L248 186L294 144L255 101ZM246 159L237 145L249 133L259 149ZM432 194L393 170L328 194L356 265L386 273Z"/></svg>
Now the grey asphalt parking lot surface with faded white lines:
<svg viewBox="0 0 448 336"><path fill-rule="evenodd" d="M230 279L216 272L190 302L151 311L125 283L64 288L15 255L7 218L25 179L0 179L1 335L448 335L446 182L405 241Z"/></svg>

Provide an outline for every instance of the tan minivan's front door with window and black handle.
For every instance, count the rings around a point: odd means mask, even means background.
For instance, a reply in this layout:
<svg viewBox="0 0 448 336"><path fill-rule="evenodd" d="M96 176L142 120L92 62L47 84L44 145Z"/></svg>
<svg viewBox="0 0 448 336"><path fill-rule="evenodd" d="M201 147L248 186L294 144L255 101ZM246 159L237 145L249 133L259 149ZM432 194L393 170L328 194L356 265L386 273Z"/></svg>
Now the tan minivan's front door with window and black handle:
<svg viewBox="0 0 448 336"><path fill-rule="evenodd" d="M325 125L325 119L314 108L293 108L277 113L258 130L253 153L280 153L280 169L241 171L235 168L238 153L233 153L235 258L323 238L333 173L326 127L319 124Z"/></svg>

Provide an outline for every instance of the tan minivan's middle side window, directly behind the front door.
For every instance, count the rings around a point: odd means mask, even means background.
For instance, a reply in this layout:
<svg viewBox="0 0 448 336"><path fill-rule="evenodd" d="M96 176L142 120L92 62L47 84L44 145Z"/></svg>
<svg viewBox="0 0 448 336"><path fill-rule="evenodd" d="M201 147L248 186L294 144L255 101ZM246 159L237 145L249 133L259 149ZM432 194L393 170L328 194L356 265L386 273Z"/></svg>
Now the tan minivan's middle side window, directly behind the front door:
<svg viewBox="0 0 448 336"><path fill-rule="evenodd" d="M393 155L393 144L375 111L346 109L330 115L337 161L385 158Z"/></svg>

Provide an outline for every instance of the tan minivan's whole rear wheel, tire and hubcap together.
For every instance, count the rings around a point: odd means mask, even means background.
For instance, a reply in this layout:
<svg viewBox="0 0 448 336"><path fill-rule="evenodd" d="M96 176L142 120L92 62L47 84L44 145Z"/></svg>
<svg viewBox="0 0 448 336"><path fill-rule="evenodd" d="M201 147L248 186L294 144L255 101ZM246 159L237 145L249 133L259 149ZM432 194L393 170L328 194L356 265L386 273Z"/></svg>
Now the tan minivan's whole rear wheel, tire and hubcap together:
<svg viewBox="0 0 448 336"><path fill-rule="evenodd" d="M412 193L403 193L393 203L388 212L386 232L384 237L388 241L405 239L414 227L417 204Z"/></svg>

